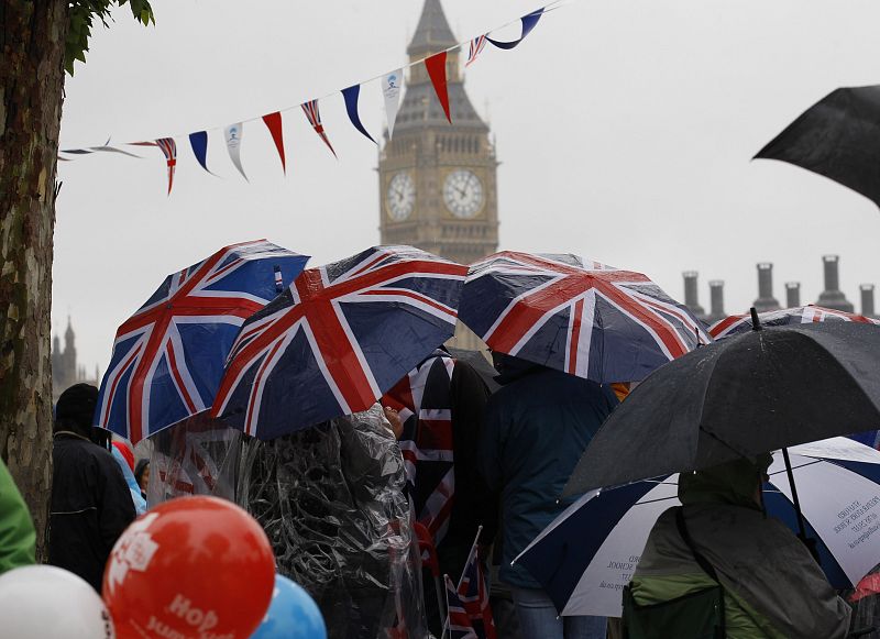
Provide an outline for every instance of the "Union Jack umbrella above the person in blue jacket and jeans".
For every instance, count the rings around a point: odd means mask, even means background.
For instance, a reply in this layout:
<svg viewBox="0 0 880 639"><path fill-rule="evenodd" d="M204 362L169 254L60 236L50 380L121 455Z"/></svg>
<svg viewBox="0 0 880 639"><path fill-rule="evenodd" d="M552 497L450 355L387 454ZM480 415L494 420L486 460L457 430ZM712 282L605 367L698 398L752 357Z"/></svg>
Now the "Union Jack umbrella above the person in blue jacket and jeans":
<svg viewBox="0 0 880 639"><path fill-rule="evenodd" d="M495 351L601 384L638 382L712 341L647 276L570 254L472 264L459 317Z"/></svg>

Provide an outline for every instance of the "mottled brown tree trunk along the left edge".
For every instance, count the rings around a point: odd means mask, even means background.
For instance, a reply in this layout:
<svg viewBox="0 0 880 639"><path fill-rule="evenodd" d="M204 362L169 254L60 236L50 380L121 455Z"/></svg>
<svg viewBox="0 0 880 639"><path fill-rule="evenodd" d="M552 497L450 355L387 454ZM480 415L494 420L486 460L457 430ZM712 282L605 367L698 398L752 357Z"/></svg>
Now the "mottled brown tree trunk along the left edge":
<svg viewBox="0 0 880 639"><path fill-rule="evenodd" d="M0 456L46 558L52 488L52 234L66 0L0 2Z"/></svg>

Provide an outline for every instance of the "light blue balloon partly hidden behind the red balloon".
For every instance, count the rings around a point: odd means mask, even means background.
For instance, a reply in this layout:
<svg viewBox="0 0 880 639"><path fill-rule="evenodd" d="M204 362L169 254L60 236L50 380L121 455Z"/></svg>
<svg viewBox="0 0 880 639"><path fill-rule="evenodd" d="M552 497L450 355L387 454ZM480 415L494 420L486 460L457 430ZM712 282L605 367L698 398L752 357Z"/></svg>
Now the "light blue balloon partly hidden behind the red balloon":
<svg viewBox="0 0 880 639"><path fill-rule="evenodd" d="M251 639L327 639L315 599L286 576L275 575L275 591L266 617Z"/></svg>

